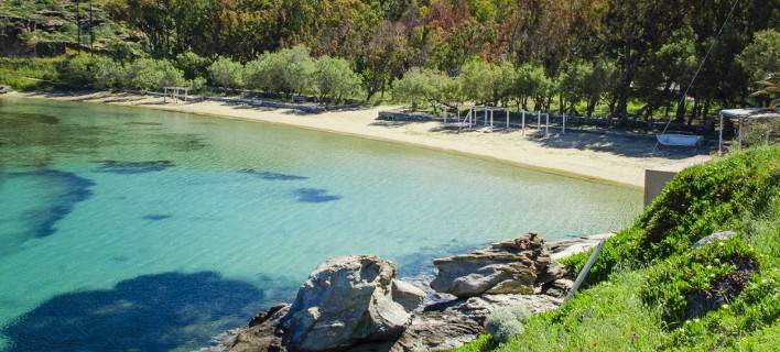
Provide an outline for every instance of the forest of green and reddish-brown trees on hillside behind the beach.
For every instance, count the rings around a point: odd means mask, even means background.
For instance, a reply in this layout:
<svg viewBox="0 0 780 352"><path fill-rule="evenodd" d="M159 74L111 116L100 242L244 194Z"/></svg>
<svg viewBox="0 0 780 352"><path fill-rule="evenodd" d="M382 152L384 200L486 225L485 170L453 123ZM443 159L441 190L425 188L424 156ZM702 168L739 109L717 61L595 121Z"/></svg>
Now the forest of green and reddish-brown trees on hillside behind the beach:
<svg viewBox="0 0 780 352"><path fill-rule="evenodd" d="M78 1L10 0L3 11L29 2L76 9ZM88 4L80 1L84 13ZM362 92L356 97L369 99L384 95L413 67L429 77L470 69L475 94L465 97L470 101L587 114L603 106L619 118L630 112L682 120L685 111L694 119L746 103L755 81L780 70L779 0L94 0L93 6L142 37L155 58L193 53L247 63L295 45L313 56L345 58L360 77ZM89 29L88 20L79 23ZM691 103L676 109L674 101L708 51L689 92Z"/></svg>

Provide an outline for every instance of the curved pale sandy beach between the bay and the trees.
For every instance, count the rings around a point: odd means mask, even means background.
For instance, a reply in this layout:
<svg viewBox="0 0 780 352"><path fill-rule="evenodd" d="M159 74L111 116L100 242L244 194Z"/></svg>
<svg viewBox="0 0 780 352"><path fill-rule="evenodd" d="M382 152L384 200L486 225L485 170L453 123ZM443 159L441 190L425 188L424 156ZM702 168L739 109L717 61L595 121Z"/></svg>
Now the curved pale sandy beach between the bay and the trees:
<svg viewBox="0 0 780 352"><path fill-rule="evenodd" d="M575 131L560 134L560 131L553 130L549 138L540 138L533 130L527 130L526 135L519 130L457 133L443 130L440 122L376 120L379 111L393 107L302 114L292 110L254 108L210 100L165 103L161 97L116 92L17 92L11 97L100 102L288 124L468 154L549 173L638 188L643 187L647 168L670 168L708 160L706 155L696 155L684 150L663 150L651 154L654 140L647 136Z"/></svg>

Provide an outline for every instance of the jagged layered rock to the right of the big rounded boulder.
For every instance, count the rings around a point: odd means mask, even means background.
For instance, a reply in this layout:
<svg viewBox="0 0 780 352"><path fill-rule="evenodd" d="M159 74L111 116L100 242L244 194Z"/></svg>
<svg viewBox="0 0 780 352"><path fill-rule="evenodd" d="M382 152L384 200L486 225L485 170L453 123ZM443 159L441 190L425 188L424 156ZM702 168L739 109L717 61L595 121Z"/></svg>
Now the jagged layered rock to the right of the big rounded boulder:
<svg viewBox="0 0 780 352"><path fill-rule="evenodd" d="M431 287L457 297L532 295L537 287L566 274L562 265L552 263L544 240L535 233L497 242L472 253L438 258L433 264L438 273Z"/></svg>

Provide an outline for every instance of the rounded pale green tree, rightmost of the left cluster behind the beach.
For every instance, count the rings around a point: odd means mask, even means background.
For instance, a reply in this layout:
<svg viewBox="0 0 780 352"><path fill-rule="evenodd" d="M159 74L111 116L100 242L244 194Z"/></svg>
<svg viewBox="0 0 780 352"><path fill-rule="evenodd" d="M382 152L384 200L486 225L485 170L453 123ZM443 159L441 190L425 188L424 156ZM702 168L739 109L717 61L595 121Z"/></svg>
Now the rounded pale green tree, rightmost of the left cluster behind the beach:
<svg viewBox="0 0 780 352"><path fill-rule="evenodd" d="M318 57L314 66L312 81L319 101L343 101L360 90L360 76L346 59L325 55Z"/></svg>

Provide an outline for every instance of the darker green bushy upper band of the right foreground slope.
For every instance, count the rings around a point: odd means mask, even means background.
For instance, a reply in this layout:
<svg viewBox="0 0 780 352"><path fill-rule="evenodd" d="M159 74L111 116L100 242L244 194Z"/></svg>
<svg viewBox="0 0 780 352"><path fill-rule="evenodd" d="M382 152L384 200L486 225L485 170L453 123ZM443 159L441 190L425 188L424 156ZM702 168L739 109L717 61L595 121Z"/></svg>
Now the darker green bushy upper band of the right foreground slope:
<svg viewBox="0 0 780 352"><path fill-rule="evenodd" d="M778 189L778 147L689 167L667 185L633 227L607 241L586 282L603 280L616 267L651 265L685 252L713 232L738 230L743 216L765 211ZM570 257L566 264L578 271L587 255Z"/></svg>

